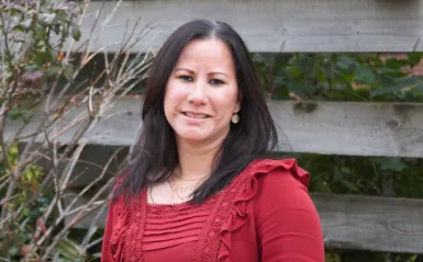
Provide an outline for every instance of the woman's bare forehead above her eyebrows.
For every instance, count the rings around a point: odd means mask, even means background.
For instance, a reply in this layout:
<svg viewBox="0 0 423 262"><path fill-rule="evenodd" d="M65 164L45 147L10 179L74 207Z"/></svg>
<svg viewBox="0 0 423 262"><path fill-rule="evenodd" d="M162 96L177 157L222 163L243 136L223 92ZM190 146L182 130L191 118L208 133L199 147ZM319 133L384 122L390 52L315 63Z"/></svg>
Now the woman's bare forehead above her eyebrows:
<svg viewBox="0 0 423 262"><path fill-rule="evenodd" d="M219 39L196 39L181 52L177 66L209 66L234 68L232 54L225 43ZM189 66L189 65L186 65Z"/></svg>

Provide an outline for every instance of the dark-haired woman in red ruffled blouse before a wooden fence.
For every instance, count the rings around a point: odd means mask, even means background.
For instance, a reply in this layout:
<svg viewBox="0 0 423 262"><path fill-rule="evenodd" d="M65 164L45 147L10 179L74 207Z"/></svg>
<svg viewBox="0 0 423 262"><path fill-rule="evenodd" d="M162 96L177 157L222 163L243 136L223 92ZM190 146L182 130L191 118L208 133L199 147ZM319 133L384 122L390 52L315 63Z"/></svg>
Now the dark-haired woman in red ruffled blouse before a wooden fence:
<svg viewBox="0 0 423 262"><path fill-rule="evenodd" d="M109 206L102 261L324 261L320 220L245 44L192 21L152 65L143 128Z"/></svg>

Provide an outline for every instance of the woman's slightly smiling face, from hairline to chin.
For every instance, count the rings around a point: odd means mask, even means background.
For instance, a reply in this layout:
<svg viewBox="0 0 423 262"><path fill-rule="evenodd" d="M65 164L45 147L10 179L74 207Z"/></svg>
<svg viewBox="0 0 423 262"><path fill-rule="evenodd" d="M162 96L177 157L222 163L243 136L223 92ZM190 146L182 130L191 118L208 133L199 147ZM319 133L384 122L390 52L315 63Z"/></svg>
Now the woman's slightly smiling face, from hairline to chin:
<svg viewBox="0 0 423 262"><path fill-rule="evenodd" d="M223 42L198 39L185 47L167 81L164 109L177 141L226 137L241 101L235 65Z"/></svg>

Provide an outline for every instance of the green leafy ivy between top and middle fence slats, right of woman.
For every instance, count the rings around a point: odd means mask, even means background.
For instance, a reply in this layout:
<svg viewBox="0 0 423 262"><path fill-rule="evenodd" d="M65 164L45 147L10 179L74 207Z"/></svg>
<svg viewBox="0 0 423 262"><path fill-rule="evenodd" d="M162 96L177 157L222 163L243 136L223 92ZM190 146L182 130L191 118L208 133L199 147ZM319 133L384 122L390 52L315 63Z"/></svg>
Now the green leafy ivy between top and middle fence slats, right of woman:
<svg viewBox="0 0 423 262"><path fill-rule="evenodd" d="M423 53L407 59L379 54L254 54L261 84L272 99L423 102L422 77L409 76Z"/></svg>

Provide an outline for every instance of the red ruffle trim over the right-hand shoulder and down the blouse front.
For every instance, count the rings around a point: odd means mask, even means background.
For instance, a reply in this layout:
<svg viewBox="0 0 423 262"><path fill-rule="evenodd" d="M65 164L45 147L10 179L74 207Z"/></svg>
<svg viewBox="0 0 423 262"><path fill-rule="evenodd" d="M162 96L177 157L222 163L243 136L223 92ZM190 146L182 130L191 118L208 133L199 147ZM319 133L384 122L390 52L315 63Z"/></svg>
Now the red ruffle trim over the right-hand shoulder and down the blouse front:
<svg viewBox="0 0 423 262"><path fill-rule="evenodd" d="M241 192L234 200L234 208L222 226L220 231L220 239L222 246L219 250L218 261L219 262L231 262L231 235L233 231L241 228L248 217L248 212L246 205L258 191L258 180L257 178L261 174L267 174L276 169L289 170L292 175L294 175L304 186L309 186L309 173L299 168L296 159L283 159L283 160L258 160L252 163L253 167L249 169L247 174L246 186L243 192Z"/></svg>

